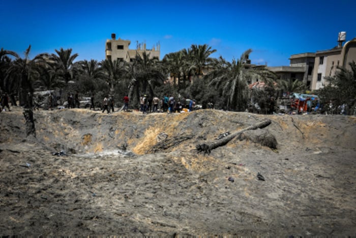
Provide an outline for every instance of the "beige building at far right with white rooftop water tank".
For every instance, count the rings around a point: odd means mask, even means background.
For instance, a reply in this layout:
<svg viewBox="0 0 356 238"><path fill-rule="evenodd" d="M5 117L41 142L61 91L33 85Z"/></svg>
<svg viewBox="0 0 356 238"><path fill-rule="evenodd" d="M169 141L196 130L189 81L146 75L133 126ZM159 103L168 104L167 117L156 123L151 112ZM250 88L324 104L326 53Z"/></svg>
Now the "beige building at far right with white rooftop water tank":
<svg viewBox="0 0 356 238"><path fill-rule="evenodd" d="M344 33L344 32L340 32ZM339 45L330 50L317 51L315 53L314 73L312 79L312 90L317 90L327 86L327 77L335 75L338 66L346 67L350 70L349 63L356 62L356 38L346 42L342 46L345 38L339 38Z"/></svg>

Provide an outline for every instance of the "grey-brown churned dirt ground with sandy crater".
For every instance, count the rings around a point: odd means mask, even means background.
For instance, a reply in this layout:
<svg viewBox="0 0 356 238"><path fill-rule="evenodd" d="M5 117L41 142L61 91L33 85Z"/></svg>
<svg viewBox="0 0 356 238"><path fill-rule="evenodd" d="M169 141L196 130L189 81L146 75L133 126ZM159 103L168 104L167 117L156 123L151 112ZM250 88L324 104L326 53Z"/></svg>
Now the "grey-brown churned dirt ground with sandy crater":
<svg viewBox="0 0 356 238"><path fill-rule="evenodd" d="M356 236L355 117L34 117L37 137L25 138L22 109L0 113L2 236ZM210 154L195 149L264 119L271 125ZM265 135L277 149L263 146Z"/></svg>

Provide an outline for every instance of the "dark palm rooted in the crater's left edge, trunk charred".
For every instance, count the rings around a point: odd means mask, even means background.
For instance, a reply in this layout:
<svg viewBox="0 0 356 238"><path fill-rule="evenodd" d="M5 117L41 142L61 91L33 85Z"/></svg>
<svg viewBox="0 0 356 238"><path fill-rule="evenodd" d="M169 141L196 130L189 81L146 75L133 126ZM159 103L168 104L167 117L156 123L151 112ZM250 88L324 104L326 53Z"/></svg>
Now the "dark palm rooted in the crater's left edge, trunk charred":
<svg viewBox="0 0 356 238"><path fill-rule="evenodd" d="M24 58L17 58L7 71L7 77L15 76L19 79L20 105L24 106L23 115L26 124L26 136L34 135L36 137L35 122L33 118L33 82L38 78L38 69L44 65L44 54L35 56L32 60L28 58L31 45L24 52Z"/></svg>

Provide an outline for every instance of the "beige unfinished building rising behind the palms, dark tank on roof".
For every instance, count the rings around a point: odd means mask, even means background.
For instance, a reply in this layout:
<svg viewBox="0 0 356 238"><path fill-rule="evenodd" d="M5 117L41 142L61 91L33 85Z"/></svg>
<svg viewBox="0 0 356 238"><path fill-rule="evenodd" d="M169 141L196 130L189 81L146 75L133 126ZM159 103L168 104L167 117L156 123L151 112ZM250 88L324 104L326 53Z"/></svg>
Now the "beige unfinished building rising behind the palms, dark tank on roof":
<svg viewBox="0 0 356 238"><path fill-rule="evenodd" d="M142 57L142 54L145 52L149 55L149 58L152 59L157 57L160 59L160 44L157 44L156 47L153 46L152 49L146 49L146 43L136 45L136 49L129 49L131 41L122 40L118 38L116 40L115 33L111 34L111 40L106 40L105 44L105 59L111 60L125 60L126 62L132 61L136 55Z"/></svg>

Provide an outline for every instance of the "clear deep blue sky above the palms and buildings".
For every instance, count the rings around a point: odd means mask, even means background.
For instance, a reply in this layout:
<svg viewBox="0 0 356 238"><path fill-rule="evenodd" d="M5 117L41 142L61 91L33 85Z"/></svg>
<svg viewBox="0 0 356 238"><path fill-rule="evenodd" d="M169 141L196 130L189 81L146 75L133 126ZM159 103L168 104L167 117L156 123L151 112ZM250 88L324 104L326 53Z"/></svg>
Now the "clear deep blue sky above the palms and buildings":
<svg viewBox="0 0 356 238"><path fill-rule="evenodd" d="M78 60L105 58L116 38L165 54L208 44L228 61L252 49L252 63L288 65L291 54L331 49L339 31L356 37L356 1L0 0L0 48L30 57L72 48Z"/></svg>

